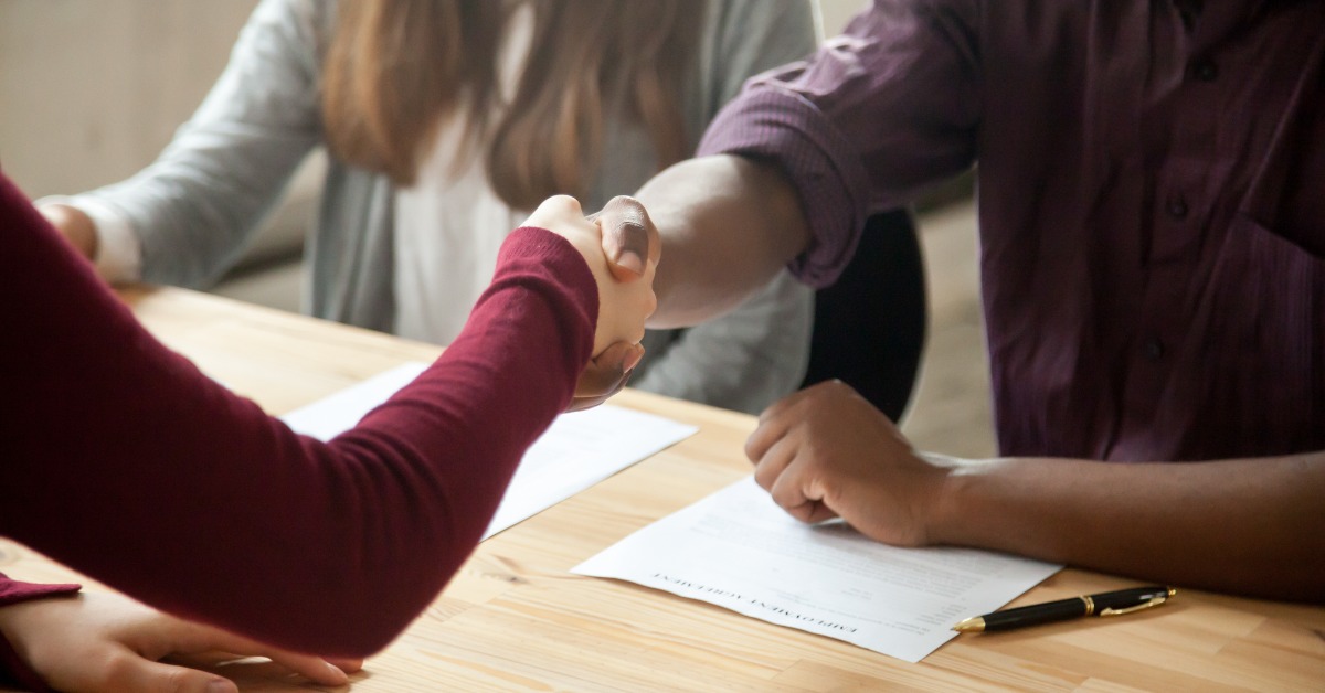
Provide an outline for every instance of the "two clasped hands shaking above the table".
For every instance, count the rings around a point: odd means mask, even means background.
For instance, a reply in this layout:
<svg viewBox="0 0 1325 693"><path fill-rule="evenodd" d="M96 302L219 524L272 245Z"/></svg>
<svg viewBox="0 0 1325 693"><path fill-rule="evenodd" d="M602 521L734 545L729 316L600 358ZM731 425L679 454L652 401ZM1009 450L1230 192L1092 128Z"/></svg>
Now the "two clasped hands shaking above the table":
<svg viewBox="0 0 1325 693"><path fill-rule="evenodd" d="M644 322L657 307L653 276L662 254L657 228L632 197L613 197L586 217L579 201L568 195L545 200L525 225L570 241L598 282L594 358L580 374L570 409L598 405L625 387L631 370L644 356Z"/></svg>

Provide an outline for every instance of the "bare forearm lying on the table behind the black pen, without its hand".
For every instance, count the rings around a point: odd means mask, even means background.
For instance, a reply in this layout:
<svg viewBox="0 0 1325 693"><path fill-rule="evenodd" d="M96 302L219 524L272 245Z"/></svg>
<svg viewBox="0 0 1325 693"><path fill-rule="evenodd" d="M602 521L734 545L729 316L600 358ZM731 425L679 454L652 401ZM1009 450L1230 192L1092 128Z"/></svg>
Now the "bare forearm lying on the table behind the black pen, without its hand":
<svg viewBox="0 0 1325 693"><path fill-rule="evenodd" d="M929 539L1321 602L1322 498L1325 453L1185 464L995 460L949 476Z"/></svg>

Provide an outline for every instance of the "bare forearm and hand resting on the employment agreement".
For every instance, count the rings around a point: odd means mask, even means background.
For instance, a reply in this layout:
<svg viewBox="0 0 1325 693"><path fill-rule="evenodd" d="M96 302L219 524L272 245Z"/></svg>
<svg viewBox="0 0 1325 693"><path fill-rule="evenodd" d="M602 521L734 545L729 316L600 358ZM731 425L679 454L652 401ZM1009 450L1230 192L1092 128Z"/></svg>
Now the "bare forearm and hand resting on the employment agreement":
<svg viewBox="0 0 1325 693"><path fill-rule="evenodd" d="M898 546L994 549L1138 579L1325 602L1325 452L1210 462L917 454L843 383L770 407L746 444L798 519Z"/></svg>

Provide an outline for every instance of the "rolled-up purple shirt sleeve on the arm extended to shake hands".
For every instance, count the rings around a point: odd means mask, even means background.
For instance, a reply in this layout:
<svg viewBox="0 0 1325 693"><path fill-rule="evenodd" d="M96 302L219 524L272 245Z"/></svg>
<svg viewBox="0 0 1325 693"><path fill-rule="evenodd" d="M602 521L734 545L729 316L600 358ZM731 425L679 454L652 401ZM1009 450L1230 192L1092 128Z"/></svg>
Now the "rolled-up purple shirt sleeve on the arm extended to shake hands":
<svg viewBox="0 0 1325 693"><path fill-rule="evenodd" d="M810 60L754 77L700 155L775 162L814 239L790 269L816 286L851 260L865 217L975 160L977 4L878 0Z"/></svg>

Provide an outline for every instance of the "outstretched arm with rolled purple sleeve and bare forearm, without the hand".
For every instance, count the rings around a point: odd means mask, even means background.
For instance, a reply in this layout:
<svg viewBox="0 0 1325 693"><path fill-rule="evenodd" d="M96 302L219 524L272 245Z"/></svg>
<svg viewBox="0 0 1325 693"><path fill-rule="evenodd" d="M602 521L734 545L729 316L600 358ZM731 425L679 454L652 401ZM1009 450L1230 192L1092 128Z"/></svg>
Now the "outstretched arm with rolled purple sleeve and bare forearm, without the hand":
<svg viewBox="0 0 1325 693"><path fill-rule="evenodd" d="M871 212L974 163L978 17L913 5L876 3L812 57L751 80L700 158L637 191L666 256L651 326L721 314L788 264L832 284ZM615 228L610 258L624 244Z"/></svg>

